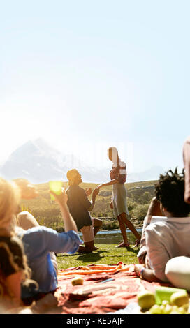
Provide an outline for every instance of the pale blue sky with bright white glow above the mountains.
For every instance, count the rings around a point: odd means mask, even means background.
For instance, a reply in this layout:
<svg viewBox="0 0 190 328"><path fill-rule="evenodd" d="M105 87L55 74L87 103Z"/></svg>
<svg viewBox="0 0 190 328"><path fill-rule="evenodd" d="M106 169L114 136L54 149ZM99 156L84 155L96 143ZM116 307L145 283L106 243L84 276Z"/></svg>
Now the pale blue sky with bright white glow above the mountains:
<svg viewBox="0 0 190 328"><path fill-rule="evenodd" d="M182 167L189 0L0 1L0 163L42 137L85 163Z"/></svg>

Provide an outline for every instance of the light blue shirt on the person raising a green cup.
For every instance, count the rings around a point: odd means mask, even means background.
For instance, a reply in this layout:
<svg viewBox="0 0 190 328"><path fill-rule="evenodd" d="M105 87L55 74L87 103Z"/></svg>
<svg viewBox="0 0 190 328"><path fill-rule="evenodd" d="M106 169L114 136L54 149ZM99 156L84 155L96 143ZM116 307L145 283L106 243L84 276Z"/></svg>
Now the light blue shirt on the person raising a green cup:
<svg viewBox="0 0 190 328"><path fill-rule="evenodd" d="M34 227L20 234L24 252L32 271L31 278L37 281L37 292L50 292L57 288L57 274L50 258L50 252L73 254L82 242L73 230L58 233L43 226ZM22 290L22 298L33 296L36 292ZM30 295L29 295L30 294Z"/></svg>

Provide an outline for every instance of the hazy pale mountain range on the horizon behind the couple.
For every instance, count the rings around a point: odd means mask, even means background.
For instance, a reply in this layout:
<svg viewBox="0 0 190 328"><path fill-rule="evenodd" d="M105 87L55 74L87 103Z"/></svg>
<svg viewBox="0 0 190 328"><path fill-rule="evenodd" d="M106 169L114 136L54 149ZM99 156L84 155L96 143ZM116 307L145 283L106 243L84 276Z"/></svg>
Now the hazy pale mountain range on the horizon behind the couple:
<svg viewBox="0 0 190 328"><path fill-rule="evenodd" d="M1 177L15 179L23 177L33 184L42 184L50 180L66 181L66 172L76 168L82 174L84 182L102 183L109 181L109 169L86 167L71 154L62 154L45 140L28 141L17 148L0 166ZM152 167L145 172L128 174L127 182L159 179L162 167Z"/></svg>

